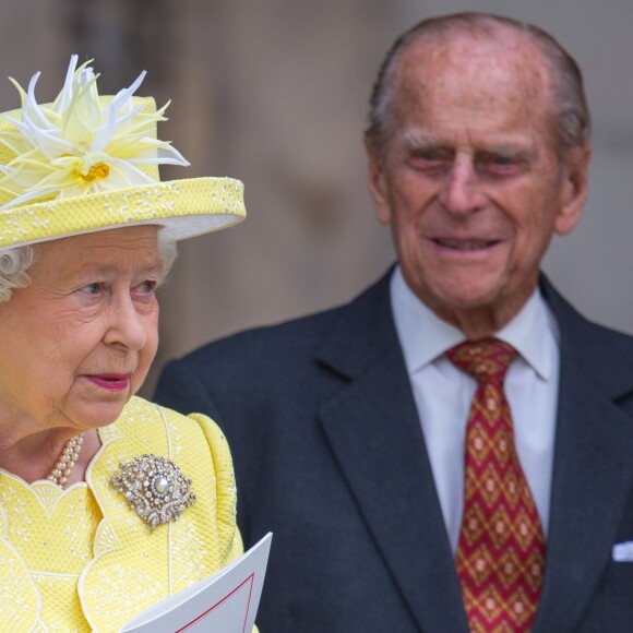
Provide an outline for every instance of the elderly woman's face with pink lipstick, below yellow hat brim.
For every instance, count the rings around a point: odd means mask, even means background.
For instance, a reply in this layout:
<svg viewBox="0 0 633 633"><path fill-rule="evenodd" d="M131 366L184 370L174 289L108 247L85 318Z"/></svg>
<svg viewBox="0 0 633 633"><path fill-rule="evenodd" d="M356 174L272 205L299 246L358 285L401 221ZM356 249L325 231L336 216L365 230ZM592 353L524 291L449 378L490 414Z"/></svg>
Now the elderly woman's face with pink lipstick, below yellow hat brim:
<svg viewBox="0 0 633 633"><path fill-rule="evenodd" d="M158 344L157 232L126 227L37 247L31 285L0 303L0 425L86 430L120 415Z"/></svg>

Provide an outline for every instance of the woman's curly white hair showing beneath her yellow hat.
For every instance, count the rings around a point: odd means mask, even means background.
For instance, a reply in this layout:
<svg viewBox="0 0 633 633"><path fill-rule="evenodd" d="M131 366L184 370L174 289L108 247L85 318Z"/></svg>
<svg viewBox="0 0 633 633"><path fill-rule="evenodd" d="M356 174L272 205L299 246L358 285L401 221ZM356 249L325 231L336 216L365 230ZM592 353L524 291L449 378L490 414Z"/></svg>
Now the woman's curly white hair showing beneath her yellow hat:
<svg viewBox="0 0 633 633"><path fill-rule="evenodd" d="M28 272L37 261L38 244L15 247L0 252L0 303L11 299L13 290L31 284ZM178 254L172 237L158 231L158 253L163 260L163 278L167 276Z"/></svg>

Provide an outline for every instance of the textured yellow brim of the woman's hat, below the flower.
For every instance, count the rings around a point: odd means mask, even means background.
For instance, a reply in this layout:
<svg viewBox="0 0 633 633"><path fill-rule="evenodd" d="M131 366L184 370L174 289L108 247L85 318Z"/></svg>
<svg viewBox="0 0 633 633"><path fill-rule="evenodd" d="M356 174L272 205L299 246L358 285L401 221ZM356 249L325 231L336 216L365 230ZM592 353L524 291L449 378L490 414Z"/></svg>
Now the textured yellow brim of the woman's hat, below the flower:
<svg viewBox="0 0 633 633"><path fill-rule="evenodd" d="M189 178L62 198L0 211L0 251L139 224L176 240L244 219L243 184L232 178Z"/></svg>

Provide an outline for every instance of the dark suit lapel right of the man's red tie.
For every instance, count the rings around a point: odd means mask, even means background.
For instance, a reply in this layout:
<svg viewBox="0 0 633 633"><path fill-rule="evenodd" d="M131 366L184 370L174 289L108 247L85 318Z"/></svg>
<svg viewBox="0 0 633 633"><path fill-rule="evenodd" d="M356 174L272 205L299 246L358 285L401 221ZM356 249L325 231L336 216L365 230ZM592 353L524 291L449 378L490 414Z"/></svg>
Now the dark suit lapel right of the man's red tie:
<svg viewBox="0 0 633 633"><path fill-rule="evenodd" d="M610 559L633 482L633 421L617 404L633 385L622 348L632 345L586 322L547 283L545 290L561 330L561 375L546 581L535 633L577 628Z"/></svg>

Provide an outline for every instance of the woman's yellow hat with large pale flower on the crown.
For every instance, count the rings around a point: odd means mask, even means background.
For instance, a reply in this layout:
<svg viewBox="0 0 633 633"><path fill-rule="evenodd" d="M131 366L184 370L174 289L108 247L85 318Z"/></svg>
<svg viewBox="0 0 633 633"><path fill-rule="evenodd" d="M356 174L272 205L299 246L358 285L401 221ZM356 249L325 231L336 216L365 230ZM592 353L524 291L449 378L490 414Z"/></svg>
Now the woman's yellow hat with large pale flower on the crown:
<svg viewBox="0 0 633 633"><path fill-rule="evenodd" d="M114 96L71 58L51 104L35 99L35 74L22 108L0 115L0 251L138 224L157 224L180 240L246 217L243 184L231 178L160 181L158 165L189 163L166 141L153 98L134 97L145 72Z"/></svg>

